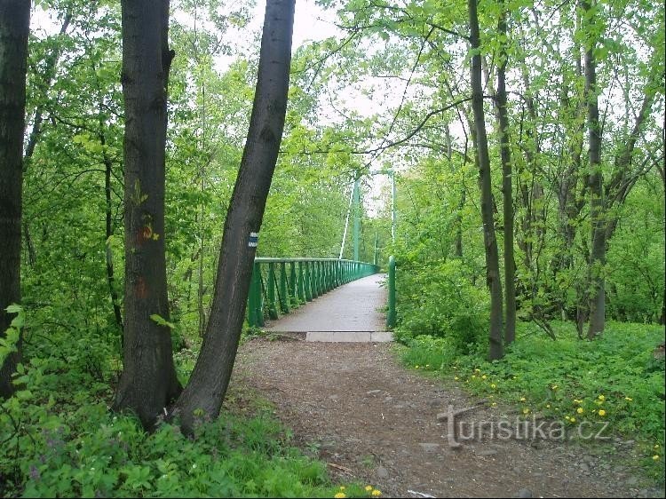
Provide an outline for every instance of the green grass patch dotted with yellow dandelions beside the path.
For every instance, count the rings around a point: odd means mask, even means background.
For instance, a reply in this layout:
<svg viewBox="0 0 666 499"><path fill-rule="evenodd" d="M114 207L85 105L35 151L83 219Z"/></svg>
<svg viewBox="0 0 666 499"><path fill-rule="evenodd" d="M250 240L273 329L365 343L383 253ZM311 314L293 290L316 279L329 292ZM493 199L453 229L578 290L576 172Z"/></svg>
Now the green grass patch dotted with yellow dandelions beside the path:
<svg viewBox="0 0 666 499"><path fill-rule="evenodd" d="M608 430L638 442L644 469L664 476L664 361L654 348L661 326L611 322L594 341L579 340L573 325L552 324L552 341L530 323L519 325L518 341L503 360L481 352L460 355L446 338L416 337L400 349L411 368L437 371L467 392L511 403L567 424L608 422Z"/></svg>

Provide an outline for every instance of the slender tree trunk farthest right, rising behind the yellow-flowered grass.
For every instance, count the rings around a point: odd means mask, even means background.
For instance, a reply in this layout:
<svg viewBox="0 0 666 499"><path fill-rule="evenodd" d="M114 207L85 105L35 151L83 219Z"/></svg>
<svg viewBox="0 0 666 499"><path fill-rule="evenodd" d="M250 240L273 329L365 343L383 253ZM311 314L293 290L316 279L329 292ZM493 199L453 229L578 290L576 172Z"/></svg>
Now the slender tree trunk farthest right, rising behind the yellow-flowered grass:
<svg viewBox="0 0 666 499"><path fill-rule="evenodd" d="M587 0L581 1L583 12L590 12ZM590 21L589 21L590 22ZM594 40L585 47L585 100L587 102L587 129L589 141L590 174L587 185L590 189L591 254L590 254L590 326L588 339L604 331L606 322L606 225L604 223L604 189L601 173L601 127L599 125L599 98L597 89L597 63L594 57Z"/></svg>

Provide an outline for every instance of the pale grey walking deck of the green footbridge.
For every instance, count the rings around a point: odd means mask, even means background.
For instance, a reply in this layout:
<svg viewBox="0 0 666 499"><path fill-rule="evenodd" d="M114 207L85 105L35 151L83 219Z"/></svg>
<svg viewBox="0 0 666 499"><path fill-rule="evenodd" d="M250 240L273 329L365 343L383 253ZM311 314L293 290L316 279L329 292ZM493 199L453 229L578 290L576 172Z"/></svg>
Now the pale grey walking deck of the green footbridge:
<svg viewBox="0 0 666 499"><path fill-rule="evenodd" d="M381 286L383 281L385 274L377 273L345 284L292 310L277 321L271 321L265 329L308 333L307 339L316 338L317 341L383 341L384 336L370 334L386 330L383 310L386 289Z"/></svg>

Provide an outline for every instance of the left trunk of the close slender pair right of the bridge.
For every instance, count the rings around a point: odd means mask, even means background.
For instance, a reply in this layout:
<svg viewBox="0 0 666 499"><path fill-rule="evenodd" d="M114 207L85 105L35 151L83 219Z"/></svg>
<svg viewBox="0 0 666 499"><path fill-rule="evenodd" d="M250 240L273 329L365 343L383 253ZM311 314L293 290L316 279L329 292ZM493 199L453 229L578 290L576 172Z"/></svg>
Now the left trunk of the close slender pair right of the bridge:
<svg viewBox="0 0 666 499"><path fill-rule="evenodd" d="M488 155L488 136L483 112L483 87L481 84L481 57L479 16L476 0L467 0L470 14L470 44L472 45L472 111L476 130L477 156L479 158L479 175L481 187L481 218L483 218L483 241L486 252L486 279L490 289L490 360L501 359L503 348L503 307L502 281L499 272L499 254L493 221L493 193L490 178L490 157Z"/></svg>

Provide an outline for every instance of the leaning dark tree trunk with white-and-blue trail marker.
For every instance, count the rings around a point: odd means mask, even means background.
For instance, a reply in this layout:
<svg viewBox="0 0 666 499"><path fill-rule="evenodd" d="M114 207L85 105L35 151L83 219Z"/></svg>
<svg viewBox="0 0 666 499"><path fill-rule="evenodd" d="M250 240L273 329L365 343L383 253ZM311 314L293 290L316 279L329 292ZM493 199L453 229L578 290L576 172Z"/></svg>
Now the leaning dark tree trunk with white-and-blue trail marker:
<svg viewBox="0 0 666 499"><path fill-rule="evenodd" d="M257 251L254 234L264 217L284 127L293 20L294 0L267 0L250 131L226 213L210 318L189 384L173 411L186 432L196 415L218 416L234 368Z"/></svg>

